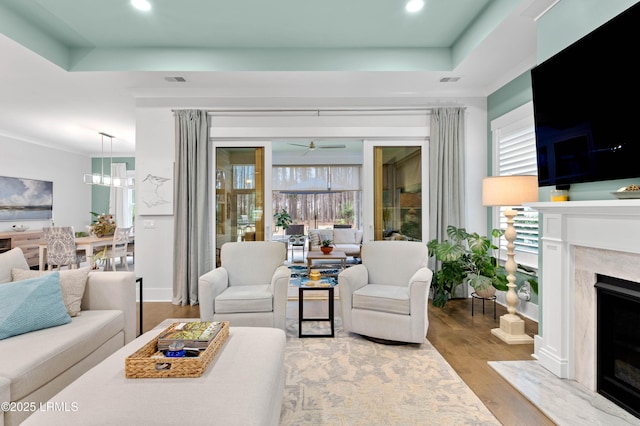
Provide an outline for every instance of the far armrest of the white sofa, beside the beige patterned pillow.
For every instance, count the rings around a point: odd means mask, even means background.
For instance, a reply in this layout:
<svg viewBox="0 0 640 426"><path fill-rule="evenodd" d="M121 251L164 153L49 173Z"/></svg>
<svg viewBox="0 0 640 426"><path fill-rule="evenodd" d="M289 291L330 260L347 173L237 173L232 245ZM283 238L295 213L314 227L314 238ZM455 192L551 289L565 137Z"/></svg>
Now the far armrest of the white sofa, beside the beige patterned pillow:
<svg viewBox="0 0 640 426"><path fill-rule="evenodd" d="M84 311L122 311L124 341L129 343L136 338L136 274L125 271L90 272L80 308Z"/></svg>

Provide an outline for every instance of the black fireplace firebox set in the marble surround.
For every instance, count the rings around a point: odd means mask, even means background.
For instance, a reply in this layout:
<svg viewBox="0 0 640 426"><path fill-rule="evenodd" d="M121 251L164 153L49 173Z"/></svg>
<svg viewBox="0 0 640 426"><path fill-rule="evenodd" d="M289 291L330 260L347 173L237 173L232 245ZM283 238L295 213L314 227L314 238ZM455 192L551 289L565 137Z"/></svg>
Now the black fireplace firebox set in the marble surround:
<svg viewBox="0 0 640 426"><path fill-rule="evenodd" d="M640 418L640 283L598 275L597 391Z"/></svg>

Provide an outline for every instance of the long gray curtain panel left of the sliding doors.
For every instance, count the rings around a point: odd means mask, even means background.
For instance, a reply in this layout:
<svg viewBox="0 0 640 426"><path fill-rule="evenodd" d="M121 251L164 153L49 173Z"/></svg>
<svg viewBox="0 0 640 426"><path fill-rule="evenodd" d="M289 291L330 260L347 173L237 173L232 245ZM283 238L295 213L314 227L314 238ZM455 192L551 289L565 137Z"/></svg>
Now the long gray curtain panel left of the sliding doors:
<svg viewBox="0 0 640 426"><path fill-rule="evenodd" d="M206 111L176 111L173 304L198 304L198 279L213 269L211 164Z"/></svg>

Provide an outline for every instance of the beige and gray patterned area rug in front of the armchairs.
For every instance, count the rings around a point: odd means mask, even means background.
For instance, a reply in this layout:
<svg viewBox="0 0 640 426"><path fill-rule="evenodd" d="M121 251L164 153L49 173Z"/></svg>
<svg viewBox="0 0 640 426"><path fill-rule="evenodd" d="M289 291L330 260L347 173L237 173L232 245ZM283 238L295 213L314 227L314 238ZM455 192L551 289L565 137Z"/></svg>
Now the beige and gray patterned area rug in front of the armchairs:
<svg viewBox="0 0 640 426"><path fill-rule="evenodd" d="M281 425L500 424L429 342L374 343L340 318L335 338L298 338L287 320L285 369Z"/></svg>

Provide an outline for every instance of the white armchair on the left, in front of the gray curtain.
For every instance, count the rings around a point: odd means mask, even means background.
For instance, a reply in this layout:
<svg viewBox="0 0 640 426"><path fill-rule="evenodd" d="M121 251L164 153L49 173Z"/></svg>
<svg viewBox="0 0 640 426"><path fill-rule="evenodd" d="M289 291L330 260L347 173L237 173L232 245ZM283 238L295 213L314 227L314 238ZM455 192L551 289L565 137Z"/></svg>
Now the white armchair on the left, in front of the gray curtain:
<svg viewBox="0 0 640 426"><path fill-rule="evenodd" d="M277 241L223 244L221 266L198 281L200 319L284 330L291 278L286 257L287 246Z"/></svg>

